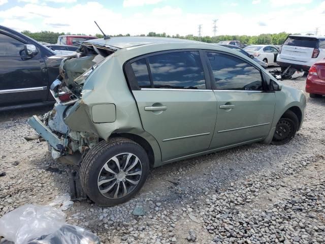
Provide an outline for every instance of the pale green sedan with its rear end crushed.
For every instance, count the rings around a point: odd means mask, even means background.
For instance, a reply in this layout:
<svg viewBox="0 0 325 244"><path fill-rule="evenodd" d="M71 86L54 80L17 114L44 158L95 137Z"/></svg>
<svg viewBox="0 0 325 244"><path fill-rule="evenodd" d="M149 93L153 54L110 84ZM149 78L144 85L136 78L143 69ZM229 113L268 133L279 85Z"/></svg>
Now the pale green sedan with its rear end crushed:
<svg viewBox="0 0 325 244"><path fill-rule="evenodd" d="M150 167L257 141L280 145L302 125L304 93L230 48L148 37L83 46L96 64L64 60L60 73L80 76L53 82L54 109L28 123L54 158L80 165L82 188L100 205L133 197Z"/></svg>

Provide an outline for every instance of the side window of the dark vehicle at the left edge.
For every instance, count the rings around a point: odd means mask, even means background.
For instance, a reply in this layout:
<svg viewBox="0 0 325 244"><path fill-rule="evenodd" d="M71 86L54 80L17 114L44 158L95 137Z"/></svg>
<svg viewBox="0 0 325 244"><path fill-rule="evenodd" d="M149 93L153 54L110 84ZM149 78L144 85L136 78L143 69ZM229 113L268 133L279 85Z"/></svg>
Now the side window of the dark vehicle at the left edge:
<svg viewBox="0 0 325 244"><path fill-rule="evenodd" d="M25 56L24 44L15 38L0 33L0 56Z"/></svg>

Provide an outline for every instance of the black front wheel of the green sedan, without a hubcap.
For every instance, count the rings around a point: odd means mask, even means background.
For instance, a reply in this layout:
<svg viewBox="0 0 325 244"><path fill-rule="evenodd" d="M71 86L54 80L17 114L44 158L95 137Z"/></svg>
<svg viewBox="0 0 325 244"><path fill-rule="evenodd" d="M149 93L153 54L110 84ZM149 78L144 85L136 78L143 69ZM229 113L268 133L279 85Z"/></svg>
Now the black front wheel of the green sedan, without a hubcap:
<svg viewBox="0 0 325 244"><path fill-rule="evenodd" d="M297 115L287 110L279 119L273 135L272 144L283 145L294 138L299 126Z"/></svg>

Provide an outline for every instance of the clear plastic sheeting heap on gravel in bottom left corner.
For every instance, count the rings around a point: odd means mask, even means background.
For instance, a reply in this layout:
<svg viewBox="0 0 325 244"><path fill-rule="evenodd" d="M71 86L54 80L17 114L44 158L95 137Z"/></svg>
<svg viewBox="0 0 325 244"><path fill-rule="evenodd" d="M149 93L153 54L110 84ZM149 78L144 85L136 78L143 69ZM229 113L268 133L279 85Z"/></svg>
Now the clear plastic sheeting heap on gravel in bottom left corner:
<svg viewBox="0 0 325 244"><path fill-rule="evenodd" d="M66 224L66 214L50 206L23 205L0 219L0 236L14 244L100 244L93 233Z"/></svg>

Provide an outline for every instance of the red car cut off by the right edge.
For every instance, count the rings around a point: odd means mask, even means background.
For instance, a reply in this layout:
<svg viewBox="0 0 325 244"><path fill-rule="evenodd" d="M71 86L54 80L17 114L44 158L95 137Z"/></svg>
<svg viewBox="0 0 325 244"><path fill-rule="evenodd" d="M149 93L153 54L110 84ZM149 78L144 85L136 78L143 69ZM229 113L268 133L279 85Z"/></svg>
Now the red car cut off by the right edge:
<svg viewBox="0 0 325 244"><path fill-rule="evenodd" d="M311 98L325 95L325 59L310 67L306 80L306 93L309 93Z"/></svg>

